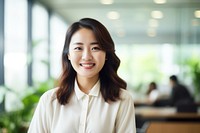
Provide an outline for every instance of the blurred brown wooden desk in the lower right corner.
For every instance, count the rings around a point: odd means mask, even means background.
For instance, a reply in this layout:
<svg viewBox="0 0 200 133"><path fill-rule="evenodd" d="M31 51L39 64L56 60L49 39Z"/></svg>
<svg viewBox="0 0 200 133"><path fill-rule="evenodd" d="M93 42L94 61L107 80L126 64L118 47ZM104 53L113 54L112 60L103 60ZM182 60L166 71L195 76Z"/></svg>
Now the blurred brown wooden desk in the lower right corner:
<svg viewBox="0 0 200 133"><path fill-rule="evenodd" d="M200 131L200 108L197 113L177 113L174 107L141 106L136 107L135 113L137 129L146 133L199 133Z"/></svg>

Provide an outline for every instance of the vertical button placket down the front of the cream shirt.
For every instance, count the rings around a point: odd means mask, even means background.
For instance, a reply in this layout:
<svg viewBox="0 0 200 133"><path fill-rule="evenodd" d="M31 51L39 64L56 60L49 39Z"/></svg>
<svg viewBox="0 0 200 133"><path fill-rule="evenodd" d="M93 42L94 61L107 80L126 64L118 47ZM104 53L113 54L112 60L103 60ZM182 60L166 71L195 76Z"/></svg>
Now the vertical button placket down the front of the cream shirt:
<svg viewBox="0 0 200 133"><path fill-rule="evenodd" d="M80 117L79 133L85 133L88 105L89 105L89 96L85 95L82 99L82 111Z"/></svg>

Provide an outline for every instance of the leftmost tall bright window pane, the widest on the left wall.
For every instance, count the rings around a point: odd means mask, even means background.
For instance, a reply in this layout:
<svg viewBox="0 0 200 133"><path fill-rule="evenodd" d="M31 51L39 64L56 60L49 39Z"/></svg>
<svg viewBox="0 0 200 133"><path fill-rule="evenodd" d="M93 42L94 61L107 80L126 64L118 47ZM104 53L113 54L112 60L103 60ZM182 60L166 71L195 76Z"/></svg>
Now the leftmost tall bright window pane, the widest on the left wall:
<svg viewBox="0 0 200 133"><path fill-rule="evenodd" d="M5 85L27 86L27 1L5 0Z"/></svg>

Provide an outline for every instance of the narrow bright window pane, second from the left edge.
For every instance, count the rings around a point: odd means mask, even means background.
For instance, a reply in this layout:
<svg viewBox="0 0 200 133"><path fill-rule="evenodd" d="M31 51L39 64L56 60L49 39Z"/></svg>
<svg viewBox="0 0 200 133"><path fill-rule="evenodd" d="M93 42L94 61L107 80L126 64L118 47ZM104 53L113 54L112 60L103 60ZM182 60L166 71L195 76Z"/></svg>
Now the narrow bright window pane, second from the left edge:
<svg viewBox="0 0 200 133"><path fill-rule="evenodd" d="M48 13L38 4L33 6L33 81L48 79Z"/></svg>

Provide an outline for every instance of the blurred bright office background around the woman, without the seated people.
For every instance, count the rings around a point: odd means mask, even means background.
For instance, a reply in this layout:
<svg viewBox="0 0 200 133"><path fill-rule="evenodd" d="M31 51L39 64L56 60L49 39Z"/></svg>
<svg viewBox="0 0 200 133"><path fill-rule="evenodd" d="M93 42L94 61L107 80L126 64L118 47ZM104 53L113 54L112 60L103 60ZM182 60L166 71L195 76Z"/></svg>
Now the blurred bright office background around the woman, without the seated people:
<svg viewBox="0 0 200 133"><path fill-rule="evenodd" d="M169 76L177 75L200 105L199 0L0 0L0 131L28 127L33 105L60 76L66 30L83 17L99 20L110 32L135 113L153 114L138 133L200 131L200 109L181 116L170 107L159 112L146 96L151 81L168 96Z"/></svg>

